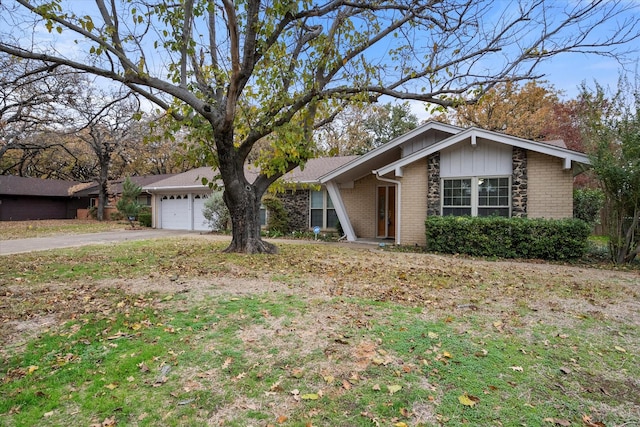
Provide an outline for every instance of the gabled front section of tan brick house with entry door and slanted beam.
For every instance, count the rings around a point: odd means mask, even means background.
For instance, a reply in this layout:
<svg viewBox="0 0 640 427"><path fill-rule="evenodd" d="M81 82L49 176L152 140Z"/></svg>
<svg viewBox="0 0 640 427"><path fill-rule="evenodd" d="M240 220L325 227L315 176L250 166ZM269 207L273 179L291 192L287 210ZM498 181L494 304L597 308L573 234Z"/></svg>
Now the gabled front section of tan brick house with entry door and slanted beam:
<svg viewBox="0 0 640 427"><path fill-rule="evenodd" d="M571 218L573 177L588 165L562 141L427 122L320 183L348 240L424 245L430 215Z"/></svg>

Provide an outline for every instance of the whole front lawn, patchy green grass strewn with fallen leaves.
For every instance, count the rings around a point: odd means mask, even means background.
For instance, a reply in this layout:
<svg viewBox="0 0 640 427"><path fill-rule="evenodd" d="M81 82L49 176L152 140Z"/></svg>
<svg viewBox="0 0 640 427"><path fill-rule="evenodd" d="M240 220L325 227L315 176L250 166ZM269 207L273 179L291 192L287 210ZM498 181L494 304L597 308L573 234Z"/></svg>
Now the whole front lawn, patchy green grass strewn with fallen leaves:
<svg viewBox="0 0 640 427"><path fill-rule="evenodd" d="M640 423L637 272L223 248L3 257L0 425Z"/></svg>

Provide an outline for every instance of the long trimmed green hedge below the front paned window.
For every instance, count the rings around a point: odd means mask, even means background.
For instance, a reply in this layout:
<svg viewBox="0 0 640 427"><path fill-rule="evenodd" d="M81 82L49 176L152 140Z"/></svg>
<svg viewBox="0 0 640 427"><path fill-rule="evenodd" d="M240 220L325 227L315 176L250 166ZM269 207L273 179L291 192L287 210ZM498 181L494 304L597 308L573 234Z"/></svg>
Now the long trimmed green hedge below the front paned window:
<svg viewBox="0 0 640 427"><path fill-rule="evenodd" d="M432 216L425 225L429 251L499 258L580 258L591 233L578 219Z"/></svg>

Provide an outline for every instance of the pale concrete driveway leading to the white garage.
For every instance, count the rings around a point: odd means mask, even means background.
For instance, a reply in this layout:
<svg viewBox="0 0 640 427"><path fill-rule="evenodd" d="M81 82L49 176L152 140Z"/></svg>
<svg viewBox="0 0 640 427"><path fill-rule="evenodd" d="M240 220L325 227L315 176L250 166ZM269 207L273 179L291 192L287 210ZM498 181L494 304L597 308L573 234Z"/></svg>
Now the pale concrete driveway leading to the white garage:
<svg viewBox="0 0 640 427"><path fill-rule="evenodd" d="M48 249L72 248L85 245L98 245L127 240L146 240L161 237L200 236L200 232L183 230L113 230L91 234L65 234L50 237L34 237L30 239L0 240L0 255L19 254L24 252L44 251ZM208 235L211 236L211 235ZM229 239L227 236L215 236Z"/></svg>

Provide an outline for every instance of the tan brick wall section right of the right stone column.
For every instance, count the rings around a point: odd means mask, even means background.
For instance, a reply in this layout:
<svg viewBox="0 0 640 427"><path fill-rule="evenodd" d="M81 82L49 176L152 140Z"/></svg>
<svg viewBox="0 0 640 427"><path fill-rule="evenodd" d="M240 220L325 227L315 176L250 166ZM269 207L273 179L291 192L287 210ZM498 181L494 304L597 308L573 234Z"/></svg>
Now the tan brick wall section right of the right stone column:
<svg viewBox="0 0 640 427"><path fill-rule="evenodd" d="M529 218L573 217L573 174L562 165L562 159L527 153Z"/></svg>

